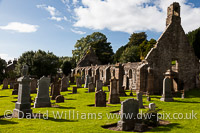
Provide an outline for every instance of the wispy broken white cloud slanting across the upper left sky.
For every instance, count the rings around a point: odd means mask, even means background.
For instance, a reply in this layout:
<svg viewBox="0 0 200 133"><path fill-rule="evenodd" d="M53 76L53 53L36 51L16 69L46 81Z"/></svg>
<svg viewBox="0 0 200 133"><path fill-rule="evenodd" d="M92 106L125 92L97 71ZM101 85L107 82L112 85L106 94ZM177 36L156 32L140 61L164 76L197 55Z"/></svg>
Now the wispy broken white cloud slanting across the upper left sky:
<svg viewBox="0 0 200 133"><path fill-rule="evenodd" d="M65 2L64 0L62 0ZM53 6L46 6L46 5L36 5L37 8L45 9L47 12L49 12L50 16L49 19L55 20L55 21L68 21L66 16L61 16L61 13Z"/></svg>

